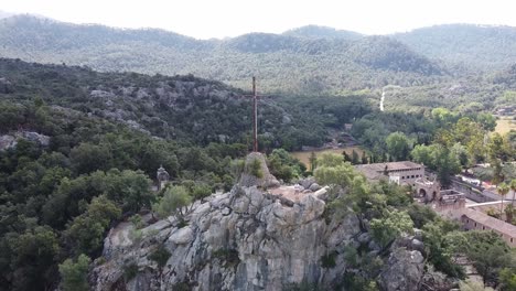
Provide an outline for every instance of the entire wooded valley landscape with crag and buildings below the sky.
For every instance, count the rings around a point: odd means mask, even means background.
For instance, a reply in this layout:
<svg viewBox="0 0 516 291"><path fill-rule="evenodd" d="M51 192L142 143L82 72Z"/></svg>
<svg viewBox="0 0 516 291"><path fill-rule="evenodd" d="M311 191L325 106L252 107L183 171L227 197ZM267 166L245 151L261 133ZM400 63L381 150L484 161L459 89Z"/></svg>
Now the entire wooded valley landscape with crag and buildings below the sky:
<svg viewBox="0 0 516 291"><path fill-rule="evenodd" d="M0 291L516 288L516 28L0 43Z"/></svg>

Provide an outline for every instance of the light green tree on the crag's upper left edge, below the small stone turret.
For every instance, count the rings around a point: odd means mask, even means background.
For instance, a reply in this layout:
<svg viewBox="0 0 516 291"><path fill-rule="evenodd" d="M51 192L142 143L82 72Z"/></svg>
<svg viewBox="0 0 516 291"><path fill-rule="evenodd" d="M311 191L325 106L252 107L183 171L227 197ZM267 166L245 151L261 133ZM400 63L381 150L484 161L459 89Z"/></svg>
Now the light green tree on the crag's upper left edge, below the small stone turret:
<svg viewBox="0 0 516 291"><path fill-rule="evenodd" d="M171 186L165 188L163 197L152 205L152 209L162 218L169 215L178 215L182 218L185 207L192 203L192 196L184 186Z"/></svg>

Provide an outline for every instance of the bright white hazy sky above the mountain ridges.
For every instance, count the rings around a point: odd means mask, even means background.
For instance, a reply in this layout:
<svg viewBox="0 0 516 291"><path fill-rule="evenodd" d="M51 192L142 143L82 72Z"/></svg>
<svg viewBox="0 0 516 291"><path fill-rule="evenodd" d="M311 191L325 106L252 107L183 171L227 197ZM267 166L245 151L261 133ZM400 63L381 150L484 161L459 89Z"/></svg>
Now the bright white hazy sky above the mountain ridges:
<svg viewBox="0 0 516 291"><path fill-rule="evenodd" d="M1 0L0 10L60 21L161 28L197 39L307 24L385 34L442 23L516 26L514 0Z"/></svg>

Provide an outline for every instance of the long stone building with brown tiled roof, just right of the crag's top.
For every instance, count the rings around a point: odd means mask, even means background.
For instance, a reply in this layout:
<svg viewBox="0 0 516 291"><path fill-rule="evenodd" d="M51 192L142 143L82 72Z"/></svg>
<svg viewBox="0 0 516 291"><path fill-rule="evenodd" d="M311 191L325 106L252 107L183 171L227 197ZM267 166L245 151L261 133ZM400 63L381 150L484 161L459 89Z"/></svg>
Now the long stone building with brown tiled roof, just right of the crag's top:
<svg viewBox="0 0 516 291"><path fill-rule="evenodd" d="M358 164L355 169L369 181L389 180L398 185L416 185L416 180L424 177L424 165L410 161Z"/></svg>

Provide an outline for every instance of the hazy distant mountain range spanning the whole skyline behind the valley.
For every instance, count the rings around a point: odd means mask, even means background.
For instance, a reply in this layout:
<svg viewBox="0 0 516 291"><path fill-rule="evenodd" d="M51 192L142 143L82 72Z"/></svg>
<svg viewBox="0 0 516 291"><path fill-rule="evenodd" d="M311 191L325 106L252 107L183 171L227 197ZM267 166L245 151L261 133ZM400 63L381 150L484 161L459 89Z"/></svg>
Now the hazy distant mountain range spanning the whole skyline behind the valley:
<svg viewBox="0 0 516 291"><path fill-rule="evenodd" d="M14 15L0 20L0 43L2 57L105 72L194 74L240 88L256 75L264 91L293 94L436 84L449 79L458 64L487 71L516 63L515 28L467 24L387 36L308 25L282 34L196 40L164 30Z"/></svg>

